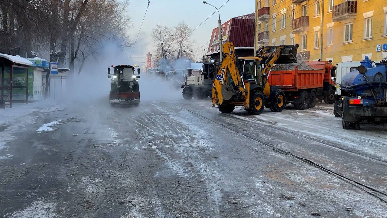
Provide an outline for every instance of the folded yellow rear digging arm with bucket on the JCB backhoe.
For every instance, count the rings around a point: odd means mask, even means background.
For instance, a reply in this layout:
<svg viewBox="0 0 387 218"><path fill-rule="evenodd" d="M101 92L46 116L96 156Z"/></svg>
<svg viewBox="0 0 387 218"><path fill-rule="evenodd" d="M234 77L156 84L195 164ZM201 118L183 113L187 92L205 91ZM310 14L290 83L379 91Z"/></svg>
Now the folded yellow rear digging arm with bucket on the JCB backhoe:
<svg viewBox="0 0 387 218"><path fill-rule="evenodd" d="M232 97L238 99L245 96L247 91L240 74L233 43L224 43L222 49L223 60L214 81L214 97L217 105L223 104L223 100L230 100Z"/></svg>

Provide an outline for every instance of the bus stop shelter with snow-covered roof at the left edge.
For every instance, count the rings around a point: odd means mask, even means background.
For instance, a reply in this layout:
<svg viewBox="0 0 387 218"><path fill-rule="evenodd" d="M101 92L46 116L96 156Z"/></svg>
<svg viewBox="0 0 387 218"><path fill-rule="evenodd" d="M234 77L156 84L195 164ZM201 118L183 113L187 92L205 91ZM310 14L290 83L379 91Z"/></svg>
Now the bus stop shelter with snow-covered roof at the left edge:
<svg viewBox="0 0 387 218"><path fill-rule="evenodd" d="M12 107L12 98L17 94L17 100L28 103L29 92L29 67L33 65L31 61L19 56L0 54L0 108ZM17 76L15 76L17 75ZM25 75L25 76L24 76ZM17 93L12 91L15 89ZM22 94L25 89L25 100ZM23 99L23 100L22 100Z"/></svg>

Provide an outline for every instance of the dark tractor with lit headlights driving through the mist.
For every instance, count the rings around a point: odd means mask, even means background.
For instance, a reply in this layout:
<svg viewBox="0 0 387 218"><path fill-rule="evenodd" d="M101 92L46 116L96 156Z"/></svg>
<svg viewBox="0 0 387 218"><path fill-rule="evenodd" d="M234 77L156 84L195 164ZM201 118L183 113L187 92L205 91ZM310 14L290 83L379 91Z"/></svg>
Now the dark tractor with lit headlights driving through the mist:
<svg viewBox="0 0 387 218"><path fill-rule="evenodd" d="M140 103L139 80L140 69L135 66L118 65L111 66L114 68L113 78L111 78L111 68L108 68L108 78L110 83L110 104L138 104Z"/></svg>

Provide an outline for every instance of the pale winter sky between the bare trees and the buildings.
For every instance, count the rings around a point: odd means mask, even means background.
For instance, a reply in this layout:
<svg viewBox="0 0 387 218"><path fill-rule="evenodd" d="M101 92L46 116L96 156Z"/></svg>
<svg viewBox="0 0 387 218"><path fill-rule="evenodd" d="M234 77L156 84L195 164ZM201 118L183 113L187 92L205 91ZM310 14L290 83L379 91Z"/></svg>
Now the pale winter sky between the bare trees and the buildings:
<svg viewBox="0 0 387 218"><path fill-rule="evenodd" d="M215 7L220 7L226 1L207 0L208 3L211 3ZM130 1L128 13L133 22L133 28L130 30L133 42L139 31L147 3L148 0ZM229 0L219 9L222 23L232 17L254 12L254 5L255 0ZM145 55L149 48L151 53L154 53L151 32L156 24L173 27L180 21L185 21L194 29L214 11L216 11L214 7L204 4L202 0L151 0L139 38L132 53L132 60L141 64L146 59ZM218 13L216 12L192 33L192 39L196 40L192 50L196 59L200 59L204 54L203 50L208 48L211 31L217 27L217 20Z"/></svg>

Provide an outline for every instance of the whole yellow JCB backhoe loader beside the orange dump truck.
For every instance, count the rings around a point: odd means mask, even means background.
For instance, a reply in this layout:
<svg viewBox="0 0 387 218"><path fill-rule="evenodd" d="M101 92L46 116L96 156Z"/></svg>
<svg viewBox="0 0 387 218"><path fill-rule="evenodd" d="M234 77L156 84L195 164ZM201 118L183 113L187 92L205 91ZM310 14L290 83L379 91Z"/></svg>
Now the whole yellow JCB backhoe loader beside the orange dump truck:
<svg viewBox="0 0 387 218"><path fill-rule="evenodd" d="M285 93L267 83L274 64L297 63L295 45L262 46L256 57L240 57L231 42L223 44L223 61L212 85L212 106L231 113L243 106L249 114L260 114L264 107L280 112L285 107Z"/></svg>

